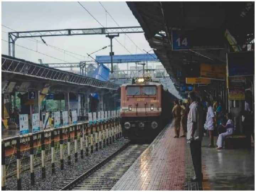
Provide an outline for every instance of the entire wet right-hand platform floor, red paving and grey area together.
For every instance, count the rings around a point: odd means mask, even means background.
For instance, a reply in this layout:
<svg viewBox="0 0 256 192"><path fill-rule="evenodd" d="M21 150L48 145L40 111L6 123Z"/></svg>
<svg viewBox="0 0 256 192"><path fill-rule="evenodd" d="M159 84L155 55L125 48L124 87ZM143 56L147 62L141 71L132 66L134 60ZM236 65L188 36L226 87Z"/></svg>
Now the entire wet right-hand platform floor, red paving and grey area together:
<svg viewBox="0 0 256 192"><path fill-rule="evenodd" d="M169 124L111 190L254 190L254 148L208 148L202 142L203 182L190 182L194 168L186 138Z"/></svg>

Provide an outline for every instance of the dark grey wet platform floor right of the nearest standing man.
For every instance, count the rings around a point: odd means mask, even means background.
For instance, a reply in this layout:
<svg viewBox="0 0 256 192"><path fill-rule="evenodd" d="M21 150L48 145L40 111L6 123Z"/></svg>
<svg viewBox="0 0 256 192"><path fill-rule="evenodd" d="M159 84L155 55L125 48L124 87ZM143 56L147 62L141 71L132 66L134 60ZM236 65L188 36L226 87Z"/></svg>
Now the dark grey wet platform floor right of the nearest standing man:
<svg viewBox="0 0 256 192"><path fill-rule="evenodd" d="M209 138L204 137L202 164L210 190L254 190L254 147L217 150L208 144Z"/></svg>

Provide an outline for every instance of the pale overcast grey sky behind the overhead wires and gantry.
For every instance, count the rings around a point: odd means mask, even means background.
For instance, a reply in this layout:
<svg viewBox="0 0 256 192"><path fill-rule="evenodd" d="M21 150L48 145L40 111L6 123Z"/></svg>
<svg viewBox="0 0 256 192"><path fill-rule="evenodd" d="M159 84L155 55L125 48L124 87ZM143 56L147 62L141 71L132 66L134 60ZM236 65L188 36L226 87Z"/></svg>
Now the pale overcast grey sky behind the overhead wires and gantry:
<svg viewBox="0 0 256 192"><path fill-rule="evenodd" d="M140 26L137 19L133 16L132 11L126 2L80 2L104 27L121 27ZM33 31L33 30L56 30L66 28L98 28L102 27L88 12L79 5L78 2L2 2L2 54L8 55L7 33L12 30L16 31ZM3 26L4 25L4 26ZM143 50L151 50L149 43L146 41L143 33L128 34L129 38L120 34L116 37L120 43L132 54L145 53ZM46 46L42 40L38 38L20 38L17 39L15 46L15 57L38 63L38 59L42 59L42 63L66 63L80 62L82 60L92 60L86 53L92 53L102 47L110 45L110 39L105 35L79 35L79 36L61 36L61 37L43 37L44 41L57 48ZM5 40L5 41L3 41ZM27 50L19 46L33 49ZM130 54L117 41L113 40L114 54ZM69 52L79 55L71 54ZM50 55L54 58L47 57ZM103 49L91 56L108 55L110 47ZM154 53L151 51L150 53ZM70 56L71 55L71 56ZM81 56L80 56L81 55ZM153 63L159 65L159 63ZM149 64L150 65L150 64ZM130 65L132 66L132 65ZM121 69L126 68L126 64L120 64ZM64 68L64 70L68 70ZM79 70L79 69L75 69Z"/></svg>

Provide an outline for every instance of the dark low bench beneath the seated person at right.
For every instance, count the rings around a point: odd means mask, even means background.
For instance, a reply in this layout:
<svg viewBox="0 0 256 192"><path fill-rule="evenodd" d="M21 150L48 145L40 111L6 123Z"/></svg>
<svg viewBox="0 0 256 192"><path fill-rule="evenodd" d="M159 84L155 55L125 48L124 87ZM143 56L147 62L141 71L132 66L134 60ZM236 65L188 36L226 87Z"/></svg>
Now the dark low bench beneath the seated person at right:
<svg viewBox="0 0 256 192"><path fill-rule="evenodd" d="M251 137L246 135L229 135L224 139L225 149L250 148Z"/></svg>

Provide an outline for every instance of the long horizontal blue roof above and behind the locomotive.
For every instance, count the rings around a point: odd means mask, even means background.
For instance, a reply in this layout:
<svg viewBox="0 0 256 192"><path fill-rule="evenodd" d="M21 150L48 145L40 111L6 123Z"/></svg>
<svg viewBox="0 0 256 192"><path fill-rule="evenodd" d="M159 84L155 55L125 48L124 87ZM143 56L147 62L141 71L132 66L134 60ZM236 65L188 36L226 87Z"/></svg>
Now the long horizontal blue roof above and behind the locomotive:
<svg viewBox="0 0 256 192"><path fill-rule="evenodd" d="M111 63L109 55L96 55L98 63ZM113 55L113 63L137 63L137 62L159 62L156 54L130 54L130 55Z"/></svg>

